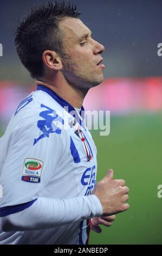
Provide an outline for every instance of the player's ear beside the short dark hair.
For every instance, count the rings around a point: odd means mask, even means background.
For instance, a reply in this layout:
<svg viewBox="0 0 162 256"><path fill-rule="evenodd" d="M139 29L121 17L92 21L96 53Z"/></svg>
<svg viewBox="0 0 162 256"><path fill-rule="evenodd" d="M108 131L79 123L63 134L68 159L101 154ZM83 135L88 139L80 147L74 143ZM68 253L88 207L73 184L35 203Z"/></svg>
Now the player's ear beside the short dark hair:
<svg viewBox="0 0 162 256"><path fill-rule="evenodd" d="M43 62L46 67L59 71L62 69L62 61L60 56L54 51L43 52Z"/></svg>

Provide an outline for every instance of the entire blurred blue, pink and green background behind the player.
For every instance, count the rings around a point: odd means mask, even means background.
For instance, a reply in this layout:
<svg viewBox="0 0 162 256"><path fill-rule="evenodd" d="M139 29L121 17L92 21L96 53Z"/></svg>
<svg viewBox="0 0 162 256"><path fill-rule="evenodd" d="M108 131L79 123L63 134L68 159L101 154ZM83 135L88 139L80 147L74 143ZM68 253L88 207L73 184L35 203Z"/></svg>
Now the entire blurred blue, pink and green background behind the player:
<svg viewBox="0 0 162 256"><path fill-rule="evenodd" d="M43 1L47 2L47 1ZM70 1L72 2L72 1ZM35 90L17 57L14 30L36 0L1 1L0 137L18 104ZM77 1L81 20L105 46L105 81L90 89L86 109L111 111L111 132L92 135L98 148L98 180L113 168L130 188L130 209L111 228L92 231L92 244L162 244L162 43L161 0ZM3 149L0 149L0 154Z"/></svg>

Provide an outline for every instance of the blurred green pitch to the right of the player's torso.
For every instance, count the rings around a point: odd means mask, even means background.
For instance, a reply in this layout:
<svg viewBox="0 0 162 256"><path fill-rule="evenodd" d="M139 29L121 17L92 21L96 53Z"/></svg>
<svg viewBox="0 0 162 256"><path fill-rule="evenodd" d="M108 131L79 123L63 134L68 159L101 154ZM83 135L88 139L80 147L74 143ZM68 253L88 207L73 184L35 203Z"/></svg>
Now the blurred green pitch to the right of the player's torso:
<svg viewBox="0 0 162 256"><path fill-rule="evenodd" d="M0 129L0 135L2 131ZM109 168L130 188L127 212L116 215L111 228L91 231L91 244L162 244L162 114L111 118L109 136L92 132L98 148L98 180Z"/></svg>

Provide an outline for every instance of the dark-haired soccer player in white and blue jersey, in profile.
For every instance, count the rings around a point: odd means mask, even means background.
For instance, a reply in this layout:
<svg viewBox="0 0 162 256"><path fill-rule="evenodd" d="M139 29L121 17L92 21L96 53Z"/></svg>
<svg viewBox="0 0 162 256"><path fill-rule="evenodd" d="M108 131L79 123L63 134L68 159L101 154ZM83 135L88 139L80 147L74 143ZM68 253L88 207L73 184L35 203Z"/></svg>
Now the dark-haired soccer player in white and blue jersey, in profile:
<svg viewBox="0 0 162 256"><path fill-rule="evenodd" d="M70 4L37 5L16 31L16 50L37 89L17 107L0 141L1 244L87 244L129 208L110 169L96 184L96 147L83 116L103 81L104 47Z"/></svg>

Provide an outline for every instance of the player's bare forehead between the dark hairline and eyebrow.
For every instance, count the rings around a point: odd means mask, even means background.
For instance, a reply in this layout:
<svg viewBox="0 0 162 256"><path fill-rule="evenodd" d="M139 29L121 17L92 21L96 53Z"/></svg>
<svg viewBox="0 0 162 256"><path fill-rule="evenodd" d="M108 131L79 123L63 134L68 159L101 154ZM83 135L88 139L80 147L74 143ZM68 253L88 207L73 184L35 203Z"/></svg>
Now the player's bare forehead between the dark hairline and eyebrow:
<svg viewBox="0 0 162 256"><path fill-rule="evenodd" d="M81 39L83 35L91 32L80 19L71 17L67 17L61 21L61 28L67 39L71 38L74 40Z"/></svg>

